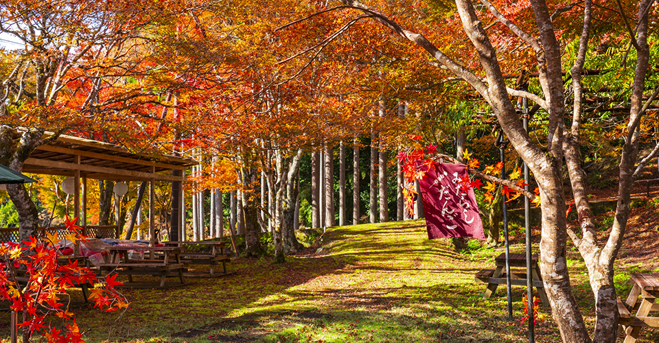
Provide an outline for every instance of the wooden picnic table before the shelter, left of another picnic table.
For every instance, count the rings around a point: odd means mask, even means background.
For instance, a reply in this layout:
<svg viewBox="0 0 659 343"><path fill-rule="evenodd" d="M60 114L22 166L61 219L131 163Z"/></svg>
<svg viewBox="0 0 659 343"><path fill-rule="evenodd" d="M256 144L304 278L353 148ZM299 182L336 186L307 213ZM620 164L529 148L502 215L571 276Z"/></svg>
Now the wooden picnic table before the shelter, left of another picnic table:
<svg viewBox="0 0 659 343"><path fill-rule="evenodd" d="M107 263L97 263L101 272L117 272L128 275L128 282L133 283L133 275L160 276L160 287L165 287L167 275L178 273L178 279L183 284L183 263L181 262L181 248L176 246L112 246L107 248L110 259ZM137 259L129 257L129 251L135 252L161 252L163 259ZM137 254L141 255L141 254Z"/></svg>

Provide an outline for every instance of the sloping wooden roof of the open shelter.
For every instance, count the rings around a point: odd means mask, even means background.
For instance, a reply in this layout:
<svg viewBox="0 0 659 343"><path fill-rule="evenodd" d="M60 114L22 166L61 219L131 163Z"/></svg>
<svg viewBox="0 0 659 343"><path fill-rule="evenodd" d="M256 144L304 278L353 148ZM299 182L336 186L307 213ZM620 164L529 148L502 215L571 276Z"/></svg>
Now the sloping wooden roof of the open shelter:
<svg viewBox="0 0 659 343"><path fill-rule="evenodd" d="M23 173L74 176L80 171L82 176L97 180L178 181L183 180L183 176L174 175L173 170L181 171L177 174L182 175L183 170L196 164L189 158L135 154L119 145L60 135L30 154L23 165Z"/></svg>

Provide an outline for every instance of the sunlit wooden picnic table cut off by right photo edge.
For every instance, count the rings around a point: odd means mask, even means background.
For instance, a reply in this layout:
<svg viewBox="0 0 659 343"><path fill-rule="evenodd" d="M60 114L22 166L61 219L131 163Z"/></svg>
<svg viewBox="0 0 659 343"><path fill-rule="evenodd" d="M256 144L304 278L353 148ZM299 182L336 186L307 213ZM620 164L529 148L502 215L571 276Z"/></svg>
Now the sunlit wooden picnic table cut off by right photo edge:
<svg viewBox="0 0 659 343"><path fill-rule="evenodd" d="M636 342L640 329L644 327L659 327L659 317L649 316L659 311L659 307L655 305L659 295L659 274L633 273L631 279L633 286L627 300L623 303L618 296L618 324L625 332L625 343Z"/></svg>

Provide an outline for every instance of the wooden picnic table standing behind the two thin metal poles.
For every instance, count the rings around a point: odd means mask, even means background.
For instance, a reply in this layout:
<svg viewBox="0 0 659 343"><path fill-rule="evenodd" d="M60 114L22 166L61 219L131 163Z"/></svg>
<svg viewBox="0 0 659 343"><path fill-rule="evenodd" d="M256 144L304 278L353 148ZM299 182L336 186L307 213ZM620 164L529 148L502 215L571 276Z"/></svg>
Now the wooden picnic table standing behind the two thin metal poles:
<svg viewBox="0 0 659 343"><path fill-rule="evenodd" d="M526 254L509 254L511 268L526 268L527 255ZM487 283L487 289L483 294L483 299L490 298L494 295L498 285L507 284L508 272L506 268L506 254L502 252L499 256L494 258L494 269L483 269L474 275L474 280L482 283ZM537 294L540 296L544 305L549 305L546 292L544 292L544 284L540 278L540 267L537 265L537 254L531 257L531 277L533 278L533 287L537 289ZM510 284L511 285L527 285L527 272L510 271Z"/></svg>

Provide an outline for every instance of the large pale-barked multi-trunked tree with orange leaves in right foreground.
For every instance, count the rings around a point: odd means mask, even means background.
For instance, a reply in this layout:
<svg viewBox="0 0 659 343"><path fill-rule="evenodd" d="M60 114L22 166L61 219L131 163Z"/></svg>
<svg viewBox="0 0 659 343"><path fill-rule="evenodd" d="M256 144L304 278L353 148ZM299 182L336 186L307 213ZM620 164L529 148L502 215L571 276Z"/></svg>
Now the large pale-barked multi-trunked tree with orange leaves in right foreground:
<svg viewBox="0 0 659 343"><path fill-rule="evenodd" d="M588 0L579 6L543 0L515 4L456 0L455 13L450 13L446 19L430 18L432 20L428 20L428 13L432 14L428 6L414 1L379 3L381 9L354 0L340 2L340 5L328 10L350 11L355 13L356 19L383 25L400 40L406 40L418 48L413 51L425 51L432 58L432 63L470 84L485 99L505 135L529 165L540 189L540 267L553 316L563 340L614 342L618 311L613 263L621 247L629 217L629 193L637 171L649 158L656 156L659 150L654 149L649 155L640 158L639 135L635 134L657 93L646 92L649 61L655 58L651 56L648 44L651 39L649 17L656 15L654 1L640 1L634 4L635 8L631 5L625 7L618 2L612 5L618 11L615 21L601 26L594 25L592 18L599 15L597 12L609 9L594 7L592 1ZM633 15L632 11L636 14ZM598 17L610 18L610 15ZM458 23L459 30L447 30L449 27L457 27L452 24ZM622 135L624 143L619 156L616 220L608 236L597 233L592 224L592 211L586 198L586 185L578 154L579 130L583 123L584 82L581 75L586 73L583 66L596 40L593 33L600 33L597 29L627 35L631 41L629 58L636 58L635 62L630 61L634 75L627 86L629 91L623 91L629 96L630 106L625 115L627 125ZM568 43L574 43L578 53L574 60L564 61L562 51ZM450 49L446 49L445 45ZM511 49L513 45L518 48ZM455 54L454 48L466 53ZM515 59L515 54L524 54L526 58ZM566 62L569 63L567 67ZM504 73L510 71L516 63L526 69L535 64L533 69L538 74L537 93L518 90L507 84ZM570 75L569 82L564 79L566 71ZM548 119L546 146L535 142L524 130L511 96L525 97L540 106ZM577 232L569 230L566 225L566 196L562 180L564 167L567 167L570 174L579 213L580 228ZM586 262L596 300L597 324L592 336L583 322L570 286L565 258L568 236L573 239Z"/></svg>

